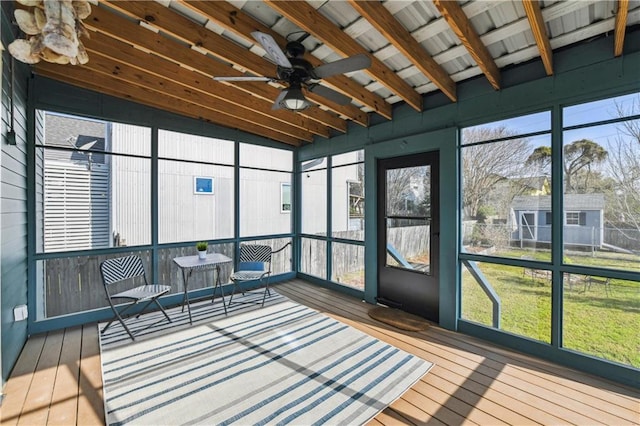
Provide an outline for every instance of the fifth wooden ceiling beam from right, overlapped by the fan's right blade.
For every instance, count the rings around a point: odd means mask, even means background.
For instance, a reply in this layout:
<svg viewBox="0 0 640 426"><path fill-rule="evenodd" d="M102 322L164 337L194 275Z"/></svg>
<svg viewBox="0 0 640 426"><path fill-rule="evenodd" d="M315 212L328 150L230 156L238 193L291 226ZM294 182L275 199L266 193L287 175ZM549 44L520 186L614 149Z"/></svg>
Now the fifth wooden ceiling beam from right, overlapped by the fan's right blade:
<svg viewBox="0 0 640 426"><path fill-rule="evenodd" d="M271 8L323 41L336 52L344 56L365 53L371 58L371 66L364 70L372 78L391 92L404 99L417 111L422 111L422 95L389 69L382 61L367 52L357 41L342 32L329 19L325 18L306 1L265 0Z"/></svg>

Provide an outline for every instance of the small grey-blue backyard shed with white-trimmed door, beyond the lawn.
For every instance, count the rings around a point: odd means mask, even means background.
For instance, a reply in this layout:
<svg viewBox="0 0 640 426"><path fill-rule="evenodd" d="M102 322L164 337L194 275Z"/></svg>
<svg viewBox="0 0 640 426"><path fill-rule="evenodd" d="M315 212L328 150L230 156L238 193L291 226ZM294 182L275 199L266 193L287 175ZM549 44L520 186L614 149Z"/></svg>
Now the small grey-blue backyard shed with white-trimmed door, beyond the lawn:
<svg viewBox="0 0 640 426"><path fill-rule="evenodd" d="M514 197L511 209L512 241L551 242L551 196L520 195ZM565 245L601 248L604 194L566 194L563 225Z"/></svg>

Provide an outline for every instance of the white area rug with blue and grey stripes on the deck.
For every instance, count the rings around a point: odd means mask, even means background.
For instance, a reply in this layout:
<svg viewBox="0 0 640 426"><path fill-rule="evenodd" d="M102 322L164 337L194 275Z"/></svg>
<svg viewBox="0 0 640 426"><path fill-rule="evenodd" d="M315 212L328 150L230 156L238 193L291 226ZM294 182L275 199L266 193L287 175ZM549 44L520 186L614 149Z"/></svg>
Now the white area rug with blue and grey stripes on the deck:
<svg viewBox="0 0 640 426"><path fill-rule="evenodd" d="M362 424L432 367L274 291L264 308L235 301L227 316L219 300L194 303L191 326L169 311L173 323L135 342L112 325L100 341L107 423Z"/></svg>

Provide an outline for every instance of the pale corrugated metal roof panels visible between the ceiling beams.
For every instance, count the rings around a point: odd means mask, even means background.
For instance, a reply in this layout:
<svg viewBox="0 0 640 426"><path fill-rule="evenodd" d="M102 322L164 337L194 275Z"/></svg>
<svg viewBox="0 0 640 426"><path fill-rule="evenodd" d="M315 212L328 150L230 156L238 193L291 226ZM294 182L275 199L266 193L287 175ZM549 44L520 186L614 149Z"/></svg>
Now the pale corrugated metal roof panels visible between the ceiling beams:
<svg viewBox="0 0 640 426"><path fill-rule="evenodd" d="M247 42L243 37L223 29L216 19L207 19L194 12L178 0L157 0L159 3L178 11L205 28L221 34L248 49L248 52L263 54L257 43ZM300 28L261 1L228 0L244 13L271 28L276 33L287 36ZM453 0L452 0L453 1ZM498 68L540 58L536 41L520 0L458 0L472 27L479 34ZM344 34L353 38L364 51L375 55L392 72L424 94L439 90L430 79L422 74L416 65L405 57L371 23L343 0L307 0L334 23ZM463 81L481 75L482 71L469 54L467 48L450 28L439 10L429 0L386 0L383 6L404 27L412 37L430 54L436 63L449 74L453 81ZM615 0L542 0L541 9L551 47L557 49L593 37L610 35L614 28L618 2ZM286 13L283 12L285 15ZM640 23L640 0L630 0L627 26ZM297 39L295 35L292 38ZM313 34L303 41L305 48L323 62L333 62L344 58ZM284 46L282 46L284 48ZM366 71L348 73L366 90L372 91L389 103L403 99L388 90ZM359 105L365 111L367 107ZM328 109L327 107L324 107Z"/></svg>

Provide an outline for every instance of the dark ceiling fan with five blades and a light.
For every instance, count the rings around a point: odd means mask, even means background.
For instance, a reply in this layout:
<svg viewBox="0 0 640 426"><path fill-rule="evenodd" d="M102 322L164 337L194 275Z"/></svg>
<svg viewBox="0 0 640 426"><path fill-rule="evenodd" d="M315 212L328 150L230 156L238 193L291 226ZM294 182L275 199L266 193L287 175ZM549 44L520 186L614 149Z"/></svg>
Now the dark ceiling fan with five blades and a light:
<svg viewBox="0 0 640 426"><path fill-rule="evenodd" d="M267 55L277 64L276 77L214 77L216 81L274 81L283 83L287 87L282 89L276 98L272 109L288 109L301 111L311 105L302 93L302 89L320 95L339 105L346 105L351 98L322 86L319 80L336 74L344 74L371 66L371 59L361 53L340 59L314 68L303 58L305 48L302 41L308 34L298 40L288 41L284 51L269 34L260 31L251 33Z"/></svg>

